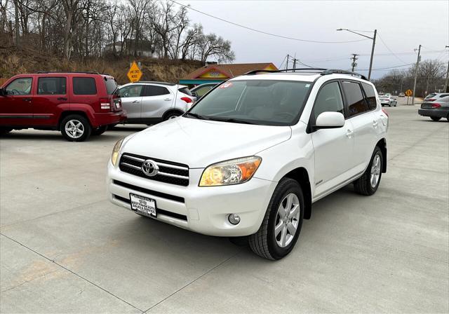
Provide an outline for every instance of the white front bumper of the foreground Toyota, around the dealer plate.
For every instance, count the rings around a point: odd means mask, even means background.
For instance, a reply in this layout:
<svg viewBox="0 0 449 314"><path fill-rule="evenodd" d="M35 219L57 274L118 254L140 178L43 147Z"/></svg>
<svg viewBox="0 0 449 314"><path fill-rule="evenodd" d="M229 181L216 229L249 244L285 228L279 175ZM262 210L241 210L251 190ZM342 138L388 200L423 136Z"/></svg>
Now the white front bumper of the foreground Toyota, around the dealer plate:
<svg viewBox="0 0 449 314"><path fill-rule="evenodd" d="M243 236L255 233L267 210L276 182L253 177L243 184L199 187L203 169L190 169L189 186L156 182L121 172L109 161L107 193L115 205L131 210L129 194L156 200L157 220L197 233ZM237 225L229 214L239 214Z"/></svg>

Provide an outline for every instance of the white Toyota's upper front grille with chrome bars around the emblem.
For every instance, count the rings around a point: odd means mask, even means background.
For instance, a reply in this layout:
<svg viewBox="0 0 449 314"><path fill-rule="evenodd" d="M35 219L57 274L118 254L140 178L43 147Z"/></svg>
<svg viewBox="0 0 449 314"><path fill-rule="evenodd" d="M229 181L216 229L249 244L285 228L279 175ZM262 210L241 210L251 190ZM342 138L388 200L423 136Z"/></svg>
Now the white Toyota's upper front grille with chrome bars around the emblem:
<svg viewBox="0 0 449 314"><path fill-rule="evenodd" d="M149 177L142 171L142 163L147 159L151 159L159 167L159 172L154 177ZM119 168L130 175L136 175L145 179L181 186L189 185L189 166L182 163L161 161L132 153L123 153L120 158Z"/></svg>

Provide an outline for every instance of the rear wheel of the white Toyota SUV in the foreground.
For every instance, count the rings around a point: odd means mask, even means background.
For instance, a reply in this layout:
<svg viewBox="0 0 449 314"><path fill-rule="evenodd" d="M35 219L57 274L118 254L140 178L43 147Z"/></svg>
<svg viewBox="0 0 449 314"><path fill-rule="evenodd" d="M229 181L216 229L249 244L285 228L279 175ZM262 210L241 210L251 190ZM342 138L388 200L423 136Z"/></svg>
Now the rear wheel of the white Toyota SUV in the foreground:
<svg viewBox="0 0 449 314"><path fill-rule="evenodd" d="M382 156L382 151L380 150L379 146L376 146L373 152L373 156L371 156L370 163L368 164L368 168L366 168L361 177L354 181L354 189L357 193L366 196L370 196L376 193L377 188L380 184L380 179L382 178L383 163L384 159ZM375 179L373 179L374 177L372 177L372 175L377 178L376 181L374 181Z"/></svg>

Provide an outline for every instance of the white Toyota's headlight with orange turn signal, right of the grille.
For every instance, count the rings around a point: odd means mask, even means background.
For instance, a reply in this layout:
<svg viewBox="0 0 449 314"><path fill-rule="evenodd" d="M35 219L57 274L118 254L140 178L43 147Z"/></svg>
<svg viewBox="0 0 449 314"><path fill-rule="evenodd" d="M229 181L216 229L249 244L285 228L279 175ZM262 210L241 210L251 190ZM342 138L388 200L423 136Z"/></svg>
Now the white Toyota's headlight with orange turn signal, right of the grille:
<svg viewBox="0 0 449 314"><path fill-rule="evenodd" d="M214 163L203 171L199 186L220 186L247 182L260 165L257 156L232 159Z"/></svg>

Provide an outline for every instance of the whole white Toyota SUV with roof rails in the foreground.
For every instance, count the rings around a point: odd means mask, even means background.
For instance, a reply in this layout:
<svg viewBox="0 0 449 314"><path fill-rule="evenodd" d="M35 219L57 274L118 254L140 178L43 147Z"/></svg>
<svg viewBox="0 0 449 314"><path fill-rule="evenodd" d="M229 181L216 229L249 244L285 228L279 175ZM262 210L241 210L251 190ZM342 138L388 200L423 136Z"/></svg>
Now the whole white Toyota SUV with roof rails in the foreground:
<svg viewBox="0 0 449 314"><path fill-rule="evenodd" d="M281 72L281 71L279 71ZM250 72L186 114L129 135L107 165L112 203L206 235L246 237L281 259L312 203L387 169L388 116L351 72Z"/></svg>

